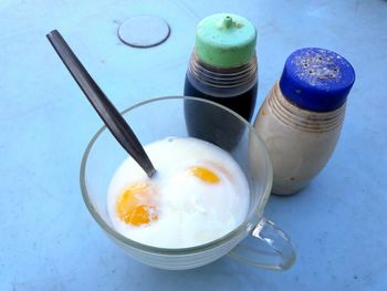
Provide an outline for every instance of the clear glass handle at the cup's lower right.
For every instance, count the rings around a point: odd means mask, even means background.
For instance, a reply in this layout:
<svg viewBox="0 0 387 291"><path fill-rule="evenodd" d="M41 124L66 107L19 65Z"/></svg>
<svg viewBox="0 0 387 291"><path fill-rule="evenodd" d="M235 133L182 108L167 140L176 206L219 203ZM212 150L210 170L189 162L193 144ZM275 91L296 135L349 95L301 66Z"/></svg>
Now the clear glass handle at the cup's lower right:
<svg viewBox="0 0 387 291"><path fill-rule="evenodd" d="M273 270L286 270L295 262L290 238L266 218L262 218L229 256L247 264Z"/></svg>

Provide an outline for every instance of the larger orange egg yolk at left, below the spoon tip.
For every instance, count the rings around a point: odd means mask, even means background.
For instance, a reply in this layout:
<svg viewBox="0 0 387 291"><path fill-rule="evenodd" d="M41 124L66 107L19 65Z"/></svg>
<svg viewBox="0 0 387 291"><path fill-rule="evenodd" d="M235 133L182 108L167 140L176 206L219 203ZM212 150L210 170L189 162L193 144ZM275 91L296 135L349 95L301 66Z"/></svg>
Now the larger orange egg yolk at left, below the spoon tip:
<svg viewBox="0 0 387 291"><path fill-rule="evenodd" d="M155 190L146 183L132 185L116 202L118 218L136 227L157 220L154 195Z"/></svg>

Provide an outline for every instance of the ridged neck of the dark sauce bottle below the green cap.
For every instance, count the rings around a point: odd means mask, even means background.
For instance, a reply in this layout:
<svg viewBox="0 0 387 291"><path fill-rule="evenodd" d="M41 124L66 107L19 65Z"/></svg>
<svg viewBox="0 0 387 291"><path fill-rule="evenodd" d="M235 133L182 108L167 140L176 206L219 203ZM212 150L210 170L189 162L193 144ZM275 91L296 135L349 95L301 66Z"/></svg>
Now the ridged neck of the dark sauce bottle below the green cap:
<svg viewBox="0 0 387 291"><path fill-rule="evenodd" d="M257 56L254 55L247 64L241 66L224 69L202 62L194 51L187 76L195 87L209 95L239 95L257 84Z"/></svg>

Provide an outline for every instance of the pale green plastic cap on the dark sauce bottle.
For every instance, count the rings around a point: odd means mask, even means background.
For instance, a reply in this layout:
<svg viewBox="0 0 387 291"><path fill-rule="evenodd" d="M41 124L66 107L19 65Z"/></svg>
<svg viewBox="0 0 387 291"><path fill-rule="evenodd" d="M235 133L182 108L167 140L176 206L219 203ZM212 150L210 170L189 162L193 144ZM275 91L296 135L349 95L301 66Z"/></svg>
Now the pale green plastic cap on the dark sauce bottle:
<svg viewBox="0 0 387 291"><path fill-rule="evenodd" d="M196 30L198 58L218 67L248 63L255 53L257 30L240 15L213 14L202 19Z"/></svg>

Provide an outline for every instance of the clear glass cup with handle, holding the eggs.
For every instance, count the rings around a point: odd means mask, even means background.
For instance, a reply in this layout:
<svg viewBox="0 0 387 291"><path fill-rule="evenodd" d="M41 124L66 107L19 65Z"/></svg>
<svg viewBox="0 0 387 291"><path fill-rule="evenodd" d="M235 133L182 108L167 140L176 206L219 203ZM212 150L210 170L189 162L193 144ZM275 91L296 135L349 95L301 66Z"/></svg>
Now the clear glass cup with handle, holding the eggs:
<svg viewBox="0 0 387 291"><path fill-rule="evenodd" d="M290 268L295 261L295 252L289 237L263 218L272 187L272 165L264 143L247 121L217 103L179 96L149 100L122 114L140 143L146 145L167 136L190 136L188 128L192 129L196 119L201 116L199 113L187 114L187 106L198 104L206 107L206 114L222 116L223 119L223 126L209 125L211 134L203 135L203 139L210 136L209 142L229 152L248 179L250 207L243 224L219 239L180 249L143 245L117 232L107 215L107 188L113 174L128 154L105 126L90 142L81 165L82 195L88 211L127 254L148 266L169 270L191 269L229 253L232 258L255 267L278 270ZM232 125L238 131L229 132L227 125ZM232 146L227 145L224 137Z"/></svg>

